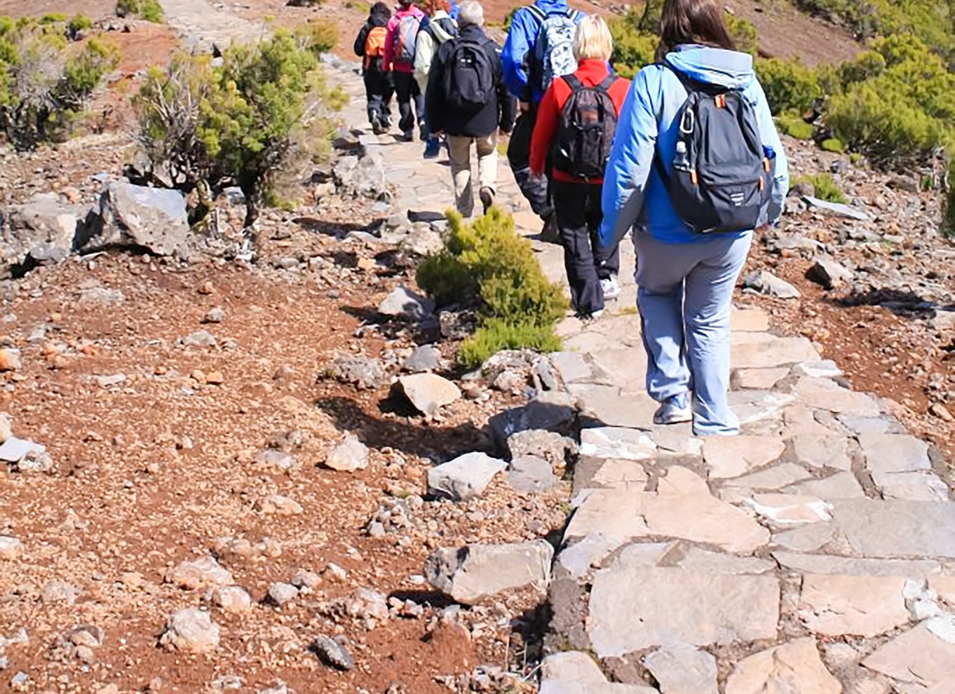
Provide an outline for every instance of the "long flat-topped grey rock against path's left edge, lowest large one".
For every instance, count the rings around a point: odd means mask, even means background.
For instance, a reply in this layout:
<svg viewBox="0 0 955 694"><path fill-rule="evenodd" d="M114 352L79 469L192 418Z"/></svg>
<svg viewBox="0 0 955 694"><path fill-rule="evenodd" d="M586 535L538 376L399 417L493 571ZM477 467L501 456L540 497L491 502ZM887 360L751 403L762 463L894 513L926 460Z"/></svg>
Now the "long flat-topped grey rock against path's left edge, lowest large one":
<svg viewBox="0 0 955 694"><path fill-rule="evenodd" d="M437 590L463 604L507 590L531 587L541 594L550 582L554 548L546 541L474 544L435 550L425 576Z"/></svg>

